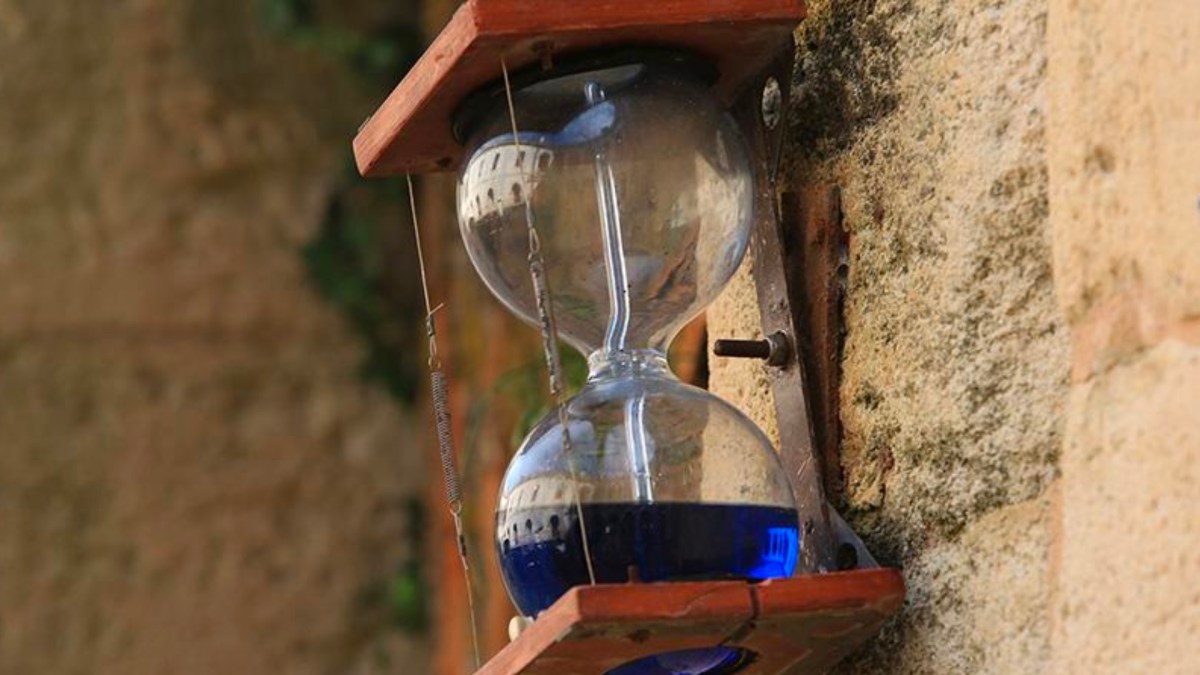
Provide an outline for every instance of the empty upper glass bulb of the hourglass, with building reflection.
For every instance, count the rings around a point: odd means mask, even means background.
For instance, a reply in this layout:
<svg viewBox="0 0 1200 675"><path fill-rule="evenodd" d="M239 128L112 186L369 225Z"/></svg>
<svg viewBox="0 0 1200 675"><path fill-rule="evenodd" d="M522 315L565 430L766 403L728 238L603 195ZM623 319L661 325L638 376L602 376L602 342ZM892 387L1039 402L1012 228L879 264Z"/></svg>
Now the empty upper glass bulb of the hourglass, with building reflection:
<svg viewBox="0 0 1200 675"><path fill-rule="evenodd" d="M671 67L559 77L514 91L512 102L518 136L494 106L458 177L475 268L536 322L528 209L560 336L583 353L665 350L745 253L754 181L738 127Z"/></svg>

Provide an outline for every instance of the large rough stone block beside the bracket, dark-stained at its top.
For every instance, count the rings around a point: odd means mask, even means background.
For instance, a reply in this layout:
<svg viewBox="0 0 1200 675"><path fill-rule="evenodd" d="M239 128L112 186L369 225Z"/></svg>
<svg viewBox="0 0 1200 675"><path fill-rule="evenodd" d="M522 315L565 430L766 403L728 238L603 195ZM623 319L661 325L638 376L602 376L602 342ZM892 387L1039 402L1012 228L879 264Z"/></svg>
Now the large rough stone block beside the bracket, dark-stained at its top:
<svg viewBox="0 0 1200 675"><path fill-rule="evenodd" d="M792 150L797 180L841 186L851 234L846 494L902 558L1055 477L1045 6L810 10Z"/></svg>

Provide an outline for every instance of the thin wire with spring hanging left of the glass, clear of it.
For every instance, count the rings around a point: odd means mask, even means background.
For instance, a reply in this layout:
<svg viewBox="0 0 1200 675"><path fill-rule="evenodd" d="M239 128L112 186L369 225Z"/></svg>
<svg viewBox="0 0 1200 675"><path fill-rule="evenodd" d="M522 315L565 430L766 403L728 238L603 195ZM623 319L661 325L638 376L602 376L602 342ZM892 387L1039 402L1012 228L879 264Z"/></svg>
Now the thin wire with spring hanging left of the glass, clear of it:
<svg viewBox="0 0 1200 675"><path fill-rule="evenodd" d="M450 401L446 376L442 370L442 358L438 356L438 333L433 315L442 305L430 303L430 283L425 275L425 255L421 251L421 228L416 221L416 197L413 192L413 177L406 174L408 181L408 205L413 211L413 237L416 240L416 263L421 269L421 292L425 294L425 335L430 339L430 388L433 402L433 419L437 425L438 453L442 459L442 479L445 482L446 503L454 519L454 531L458 544L458 560L462 562L462 578L467 585L467 613L470 615L470 646L475 658L475 670L480 667L479 628L475 622L475 593L470 583L470 561L467 556L467 537L462 527L462 489L458 485L458 471L455 467L454 437L450 432Z"/></svg>

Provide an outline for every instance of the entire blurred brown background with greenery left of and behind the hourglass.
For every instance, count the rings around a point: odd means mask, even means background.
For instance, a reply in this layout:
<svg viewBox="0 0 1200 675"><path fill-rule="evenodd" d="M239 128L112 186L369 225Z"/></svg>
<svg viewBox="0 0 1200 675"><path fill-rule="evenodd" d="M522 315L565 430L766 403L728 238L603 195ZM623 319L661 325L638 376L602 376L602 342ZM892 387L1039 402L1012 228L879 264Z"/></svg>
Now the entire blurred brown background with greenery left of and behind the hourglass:
<svg viewBox="0 0 1200 675"><path fill-rule="evenodd" d="M456 6L0 0L0 673L467 669L408 195L350 155ZM451 199L419 179L491 653L547 399Z"/></svg>

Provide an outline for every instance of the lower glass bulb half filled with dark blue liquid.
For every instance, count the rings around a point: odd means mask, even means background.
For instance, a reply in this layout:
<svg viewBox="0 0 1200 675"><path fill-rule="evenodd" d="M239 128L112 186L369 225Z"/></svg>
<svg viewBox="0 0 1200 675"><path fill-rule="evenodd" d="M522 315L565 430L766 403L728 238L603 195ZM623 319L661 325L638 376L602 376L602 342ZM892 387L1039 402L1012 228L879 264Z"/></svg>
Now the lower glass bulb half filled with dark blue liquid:
<svg viewBox="0 0 1200 675"><path fill-rule="evenodd" d="M770 443L676 380L661 354L594 369L566 418L565 435L557 413L534 428L502 485L497 552L526 616L592 575L762 580L796 569L798 515Z"/></svg>

